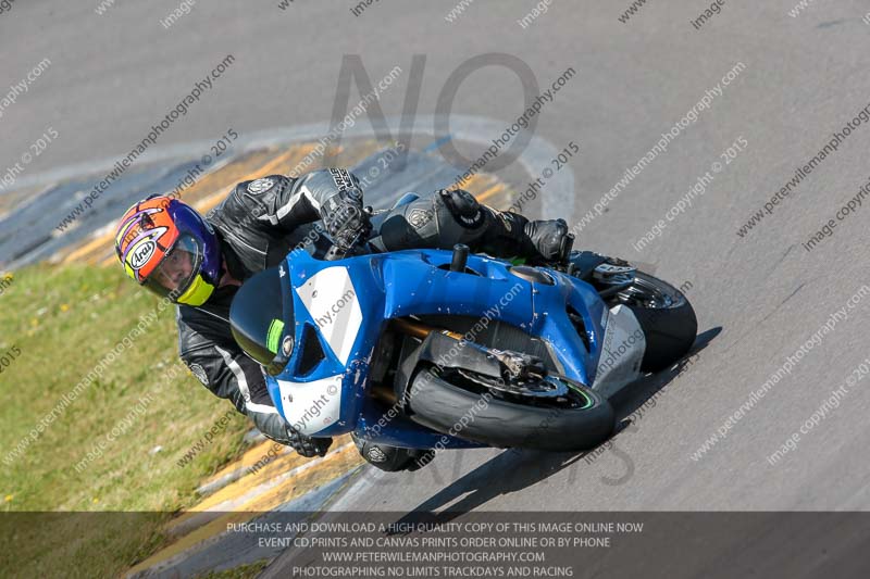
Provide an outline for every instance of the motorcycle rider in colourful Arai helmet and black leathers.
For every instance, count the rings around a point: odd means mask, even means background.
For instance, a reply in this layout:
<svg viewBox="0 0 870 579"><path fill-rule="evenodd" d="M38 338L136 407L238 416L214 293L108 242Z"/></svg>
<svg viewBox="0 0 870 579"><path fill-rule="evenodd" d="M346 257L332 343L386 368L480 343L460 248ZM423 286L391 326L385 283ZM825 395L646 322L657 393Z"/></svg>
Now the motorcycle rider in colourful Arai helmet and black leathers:
<svg viewBox="0 0 870 579"><path fill-rule="evenodd" d="M295 248L322 257L333 244L347 250L360 237L380 236L383 251L465 243L472 251L532 263L558 259L568 238L562 219L499 212L461 189L443 189L389 210L378 215L374 230L370 214L362 206L360 181L346 169L298 178L270 175L238 184L204 218L177 199L139 201L121 217L115 251L127 275L178 304L179 355L203 386L229 399L268 438L303 456L323 456L332 439L307 437L287 424L260 366L233 340L229 304L246 279L277 265ZM378 468L420 464L419 451L355 441Z"/></svg>

